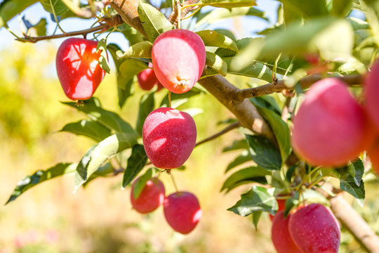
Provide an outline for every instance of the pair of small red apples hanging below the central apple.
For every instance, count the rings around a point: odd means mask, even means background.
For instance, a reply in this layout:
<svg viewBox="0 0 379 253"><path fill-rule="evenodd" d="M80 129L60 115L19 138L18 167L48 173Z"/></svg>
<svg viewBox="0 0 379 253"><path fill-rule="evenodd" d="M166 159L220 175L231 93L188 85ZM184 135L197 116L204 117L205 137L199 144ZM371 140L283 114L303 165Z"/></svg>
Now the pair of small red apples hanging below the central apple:
<svg viewBox="0 0 379 253"><path fill-rule="evenodd" d="M178 191L165 196L164 184L156 177L149 179L135 197L135 183L131 187L131 204L141 214L153 212L163 205L164 216L173 230L187 234L194 230L201 219L199 200L192 193Z"/></svg>

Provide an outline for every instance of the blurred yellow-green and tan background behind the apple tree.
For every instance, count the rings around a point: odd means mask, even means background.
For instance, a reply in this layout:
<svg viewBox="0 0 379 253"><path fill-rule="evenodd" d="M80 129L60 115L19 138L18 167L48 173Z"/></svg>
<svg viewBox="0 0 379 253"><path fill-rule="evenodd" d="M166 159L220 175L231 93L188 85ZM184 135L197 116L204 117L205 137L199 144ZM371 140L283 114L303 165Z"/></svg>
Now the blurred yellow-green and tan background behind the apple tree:
<svg viewBox="0 0 379 253"><path fill-rule="evenodd" d="M20 179L38 169L58 162L78 162L93 141L59 132L62 126L85 118L67 101L55 75L55 44L13 43L0 49L0 201L5 203ZM114 70L114 68L112 69ZM248 82L246 77L230 77L234 84ZM103 108L118 112L135 125L136 93L122 110L117 103L114 72L105 77L95 96ZM166 91L157 94L157 101ZM198 141L215 134L224 126L221 120L232 117L215 98L200 95L182 108L201 108L194 117ZM234 130L200 145L186 162L185 171L173 171L180 190L199 198L203 217L192 233L174 233L159 208L149 215L133 211L130 189L121 190L122 175L98 178L73 194L74 177L53 179L28 190L0 209L0 253L8 252L274 252L270 240L271 223L262 217L255 231L249 217L237 216L226 209L239 200L251 186L241 186L225 195L220 193L224 171L238 153L222 153L241 133ZM246 164L245 164L246 165ZM166 193L173 192L168 175L161 180ZM366 183L368 200L362 209L375 231L379 231L378 182ZM340 252L364 252L351 235L343 233Z"/></svg>

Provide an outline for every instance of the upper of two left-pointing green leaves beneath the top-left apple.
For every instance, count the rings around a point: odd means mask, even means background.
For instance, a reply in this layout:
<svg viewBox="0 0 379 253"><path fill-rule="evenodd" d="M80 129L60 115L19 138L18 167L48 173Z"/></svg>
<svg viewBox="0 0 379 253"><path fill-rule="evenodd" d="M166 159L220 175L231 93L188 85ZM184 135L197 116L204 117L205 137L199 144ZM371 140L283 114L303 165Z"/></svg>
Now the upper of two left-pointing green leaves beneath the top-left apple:
<svg viewBox="0 0 379 253"><path fill-rule="evenodd" d="M124 121L124 119L121 119L117 113L104 110L93 103L86 103L86 101L84 101L83 106L77 106L74 102L63 102L63 104L86 113L90 119L102 124L107 127L107 129L113 129L116 132L135 133L133 127Z"/></svg>

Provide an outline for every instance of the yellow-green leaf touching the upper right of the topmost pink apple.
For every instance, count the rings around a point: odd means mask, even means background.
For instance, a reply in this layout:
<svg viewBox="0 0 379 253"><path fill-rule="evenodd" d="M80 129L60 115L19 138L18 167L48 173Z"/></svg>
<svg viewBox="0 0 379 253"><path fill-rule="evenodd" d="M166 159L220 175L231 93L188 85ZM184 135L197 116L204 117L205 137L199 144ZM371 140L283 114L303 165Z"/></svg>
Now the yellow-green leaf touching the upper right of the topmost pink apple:
<svg viewBox="0 0 379 253"><path fill-rule="evenodd" d="M219 34L212 30L204 30L196 33L204 41L205 46L217 46L219 48L231 49L236 52L239 51L237 44L224 34Z"/></svg>

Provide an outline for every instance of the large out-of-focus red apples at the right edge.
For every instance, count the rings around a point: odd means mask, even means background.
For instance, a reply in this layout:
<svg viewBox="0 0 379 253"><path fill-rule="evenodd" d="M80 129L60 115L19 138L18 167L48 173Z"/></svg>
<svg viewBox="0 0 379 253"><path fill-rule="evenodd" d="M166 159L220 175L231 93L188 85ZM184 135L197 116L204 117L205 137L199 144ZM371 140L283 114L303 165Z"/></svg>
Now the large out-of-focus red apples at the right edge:
<svg viewBox="0 0 379 253"><path fill-rule="evenodd" d="M379 171L379 65L365 80L364 103L338 78L314 83L293 119L295 153L314 166L341 167L368 152Z"/></svg>

